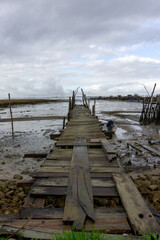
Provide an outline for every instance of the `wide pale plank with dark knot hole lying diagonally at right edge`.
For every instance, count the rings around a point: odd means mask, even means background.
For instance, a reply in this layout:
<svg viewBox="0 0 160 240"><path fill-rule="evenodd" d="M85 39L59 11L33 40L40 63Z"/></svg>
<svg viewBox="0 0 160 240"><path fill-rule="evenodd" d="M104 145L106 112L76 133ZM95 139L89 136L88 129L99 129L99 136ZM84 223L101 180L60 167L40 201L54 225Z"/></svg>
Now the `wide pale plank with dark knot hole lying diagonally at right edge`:
<svg viewBox="0 0 160 240"><path fill-rule="evenodd" d="M131 178L123 173L114 173L113 179L135 234L147 234L148 228L152 233L159 233L160 226Z"/></svg>

